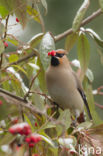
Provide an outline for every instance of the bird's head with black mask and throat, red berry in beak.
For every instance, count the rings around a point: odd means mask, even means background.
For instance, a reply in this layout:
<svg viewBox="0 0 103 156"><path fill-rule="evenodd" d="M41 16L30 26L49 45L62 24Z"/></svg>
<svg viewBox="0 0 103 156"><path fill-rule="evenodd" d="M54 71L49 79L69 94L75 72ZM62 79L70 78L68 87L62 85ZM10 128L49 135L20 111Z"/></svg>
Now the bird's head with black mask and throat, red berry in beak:
<svg viewBox="0 0 103 156"><path fill-rule="evenodd" d="M48 52L48 56L51 56L51 65L58 66L67 62L66 54L67 51L63 49L52 50L51 52Z"/></svg>

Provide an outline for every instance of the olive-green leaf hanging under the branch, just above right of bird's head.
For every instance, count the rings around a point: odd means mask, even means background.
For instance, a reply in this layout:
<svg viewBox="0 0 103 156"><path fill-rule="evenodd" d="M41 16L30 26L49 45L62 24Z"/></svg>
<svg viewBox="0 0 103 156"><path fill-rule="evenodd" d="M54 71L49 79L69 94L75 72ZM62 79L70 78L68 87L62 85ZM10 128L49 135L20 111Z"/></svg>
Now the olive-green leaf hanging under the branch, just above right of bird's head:
<svg viewBox="0 0 103 156"><path fill-rule="evenodd" d="M77 38L78 38L78 34L76 33L72 33L67 36L66 41L65 41L65 49L67 51L70 51L73 48Z"/></svg>

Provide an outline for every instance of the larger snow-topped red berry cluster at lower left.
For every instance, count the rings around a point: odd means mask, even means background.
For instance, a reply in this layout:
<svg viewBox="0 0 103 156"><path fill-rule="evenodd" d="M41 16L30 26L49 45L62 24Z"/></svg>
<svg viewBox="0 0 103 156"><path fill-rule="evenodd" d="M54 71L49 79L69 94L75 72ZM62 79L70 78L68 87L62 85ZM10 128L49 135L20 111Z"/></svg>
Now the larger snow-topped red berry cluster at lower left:
<svg viewBox="0 0 103 156"><path fill-rule="evenodd" d="M27 123L18 123L9 128L11 134L29 135L31 133L30 126Z"/></svg>

